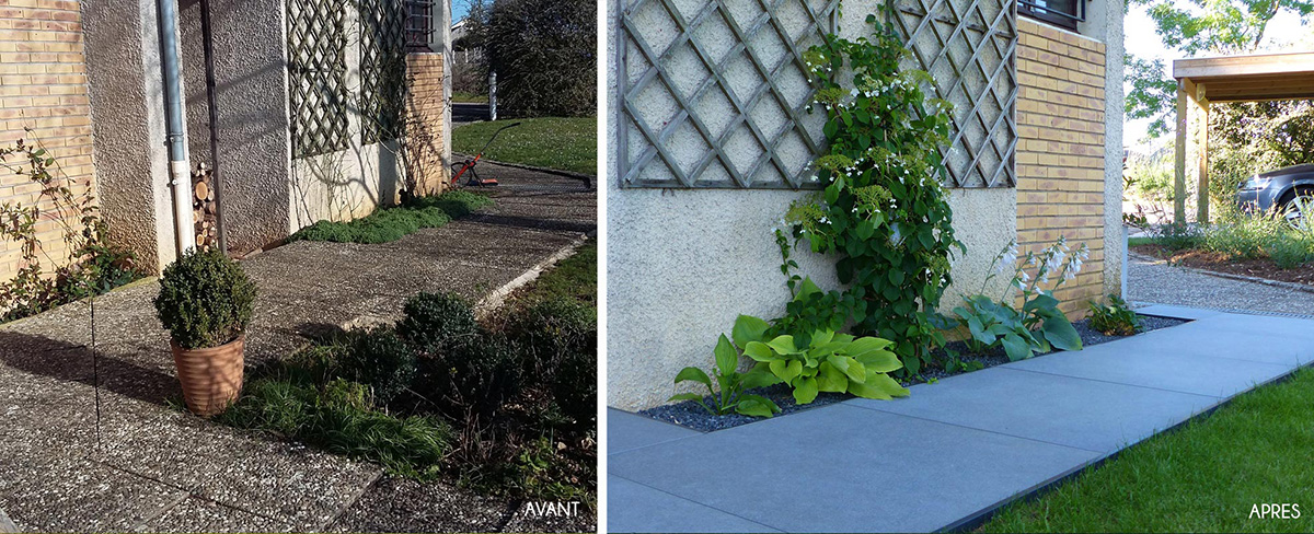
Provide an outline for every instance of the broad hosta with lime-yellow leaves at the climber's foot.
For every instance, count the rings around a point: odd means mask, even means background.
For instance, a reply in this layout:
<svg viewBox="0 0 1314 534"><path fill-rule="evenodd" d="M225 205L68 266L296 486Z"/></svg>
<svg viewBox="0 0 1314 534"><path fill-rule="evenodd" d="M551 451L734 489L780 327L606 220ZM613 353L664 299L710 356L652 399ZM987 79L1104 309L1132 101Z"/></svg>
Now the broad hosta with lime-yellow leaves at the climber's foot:
<svg viewBox="0 0 1314 534"><path fill-rule="evenodd" d="M821 391L887 400L908 395L908 388L887 374L903 367L890 350L892 341L833 331L813 332L809 337L802 346L790 335L762 337L749 341L744 356L766 365L773 377L790 384L799 404L811 403Z"/></svg>

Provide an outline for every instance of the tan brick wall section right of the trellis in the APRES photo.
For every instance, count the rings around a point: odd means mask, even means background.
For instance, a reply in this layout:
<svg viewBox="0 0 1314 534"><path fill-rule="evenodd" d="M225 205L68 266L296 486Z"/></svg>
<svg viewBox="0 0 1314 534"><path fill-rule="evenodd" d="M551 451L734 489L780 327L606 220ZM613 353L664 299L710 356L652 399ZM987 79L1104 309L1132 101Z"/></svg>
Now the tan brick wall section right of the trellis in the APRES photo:
<svg viewBox="0 0 1314 534"><path fill-rule="evenodd" d="M1105 46L1026 18L1017 26L1017 239L1024 253L1060 235L1091 247L1055 294L1077 318L1104 293Z"/></svg>

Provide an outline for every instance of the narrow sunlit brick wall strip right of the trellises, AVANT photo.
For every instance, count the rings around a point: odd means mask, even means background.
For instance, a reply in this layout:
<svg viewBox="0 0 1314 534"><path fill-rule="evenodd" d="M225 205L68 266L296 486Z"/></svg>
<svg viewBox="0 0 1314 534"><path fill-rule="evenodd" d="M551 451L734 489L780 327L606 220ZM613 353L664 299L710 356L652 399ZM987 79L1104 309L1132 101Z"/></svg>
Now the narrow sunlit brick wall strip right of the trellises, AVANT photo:
<svg viewBox="0 0 1314 534"><path fill-rule="evenodd" d="M409 54L410 94L406 102L407 169L419 193L439 193L447 186L449 169L444 165L443 55Z"/></svg>

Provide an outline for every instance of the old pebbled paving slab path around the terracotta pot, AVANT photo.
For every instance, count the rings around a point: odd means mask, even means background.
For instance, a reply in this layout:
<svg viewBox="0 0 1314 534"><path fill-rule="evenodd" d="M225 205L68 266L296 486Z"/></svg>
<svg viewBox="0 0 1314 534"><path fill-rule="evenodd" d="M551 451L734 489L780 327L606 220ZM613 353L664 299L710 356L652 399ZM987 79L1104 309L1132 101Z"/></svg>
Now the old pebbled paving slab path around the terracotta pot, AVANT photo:
<svg viewBox="0 0 1314 534"><path fill-rule="evenodd" d="M478 299L594 231L593 193L555 176L494 173L497 206L378 245L293 243L252 256L259 286L247 363L304 335L390 318L424 290ZM560 182L551 192L532 185ZM593 530L522 504L382 475L378 466L238 432L180 399L155 281L0 325L0 509L37 531ZM93 375L100 377L100 434Z"/></svg>

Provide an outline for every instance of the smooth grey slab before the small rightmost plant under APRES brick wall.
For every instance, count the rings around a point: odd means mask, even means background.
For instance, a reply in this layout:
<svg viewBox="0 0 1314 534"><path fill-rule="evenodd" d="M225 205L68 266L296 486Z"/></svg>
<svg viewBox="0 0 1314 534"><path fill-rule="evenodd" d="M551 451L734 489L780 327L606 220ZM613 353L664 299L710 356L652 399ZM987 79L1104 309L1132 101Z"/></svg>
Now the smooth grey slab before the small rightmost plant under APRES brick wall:
<svg viewBox="0 0 1314 534"><path fill-rule="evenodd" d="M1218 358L1189 346L1177 352L1138 350L1137 339L1126 341L1125 345L1096 345L1024 359L1005 367L1223 399L1292 371L1290 365Z"/></svg>

